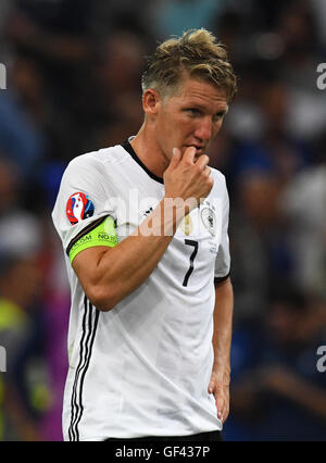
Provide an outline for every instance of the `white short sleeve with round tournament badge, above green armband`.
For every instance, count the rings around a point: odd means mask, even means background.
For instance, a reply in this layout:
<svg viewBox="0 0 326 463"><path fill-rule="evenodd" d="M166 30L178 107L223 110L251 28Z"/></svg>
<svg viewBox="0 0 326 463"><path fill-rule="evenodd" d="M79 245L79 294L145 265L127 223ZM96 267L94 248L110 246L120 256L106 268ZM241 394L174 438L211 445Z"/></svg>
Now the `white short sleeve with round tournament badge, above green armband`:
<svg viewBox="0 0 326 463"><path fill-rule="evenodd" d="M105 216L114 216L103 178L102 163L92 153L75 158L66 167L52 220L65 251Z"/></svg>

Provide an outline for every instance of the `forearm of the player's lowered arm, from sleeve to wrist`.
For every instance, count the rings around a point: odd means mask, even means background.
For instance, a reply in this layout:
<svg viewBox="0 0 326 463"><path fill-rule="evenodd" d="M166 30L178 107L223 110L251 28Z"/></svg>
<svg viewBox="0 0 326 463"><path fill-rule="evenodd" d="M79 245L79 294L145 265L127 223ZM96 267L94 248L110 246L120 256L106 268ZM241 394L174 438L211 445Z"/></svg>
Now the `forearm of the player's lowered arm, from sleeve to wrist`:
<svg viewBox="0 0 326 463"><path fill-rule="evenodd" d="M223 380L229 381L230 345L233 330L234 292L230 279L215 286L214 309L214 364L213 372L223 372Z"/></svg>

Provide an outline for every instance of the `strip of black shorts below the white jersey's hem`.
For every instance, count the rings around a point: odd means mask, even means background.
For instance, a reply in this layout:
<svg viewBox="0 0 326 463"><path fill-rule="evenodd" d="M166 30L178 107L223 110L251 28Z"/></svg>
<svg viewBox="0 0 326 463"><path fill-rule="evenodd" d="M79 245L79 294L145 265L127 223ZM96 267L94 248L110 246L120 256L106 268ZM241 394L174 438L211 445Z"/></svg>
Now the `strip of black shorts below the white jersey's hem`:
<svg viewBox="0 0 326 463"><path fill-rule="evenodd" d="M121 438L109 438L105 441L121 441L121 442L221 442L223 437L220 430L212 430L210 433L192 434L190 436L148 436L148 437L135 437L130 439Z"/></svg>

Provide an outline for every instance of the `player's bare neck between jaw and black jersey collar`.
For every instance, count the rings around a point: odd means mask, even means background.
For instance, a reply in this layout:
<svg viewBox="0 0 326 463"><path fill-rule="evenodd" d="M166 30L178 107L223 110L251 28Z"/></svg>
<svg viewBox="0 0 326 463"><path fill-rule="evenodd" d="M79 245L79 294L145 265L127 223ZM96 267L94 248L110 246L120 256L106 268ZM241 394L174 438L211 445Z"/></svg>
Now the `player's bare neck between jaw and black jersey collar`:
<svg viewBox="0 0 326 463"><path fill-rule="evenodd" d="M140 161L158 177L163 178L163 174L170 164L160 148L154 130L145 122L140 130L130 142Z"/></svg>

